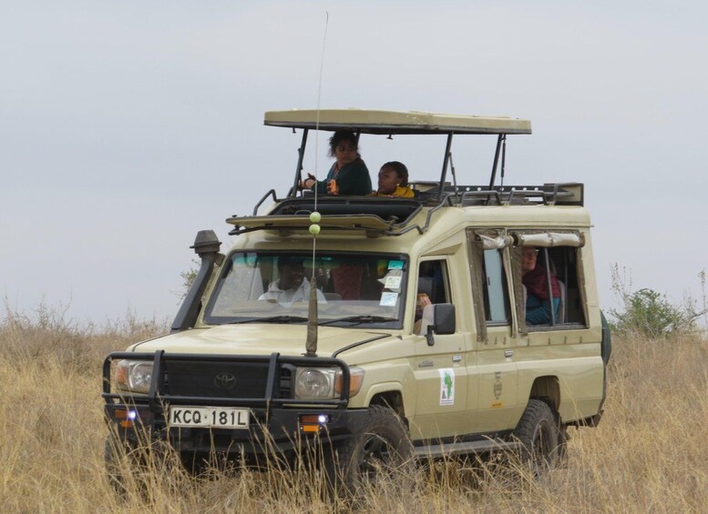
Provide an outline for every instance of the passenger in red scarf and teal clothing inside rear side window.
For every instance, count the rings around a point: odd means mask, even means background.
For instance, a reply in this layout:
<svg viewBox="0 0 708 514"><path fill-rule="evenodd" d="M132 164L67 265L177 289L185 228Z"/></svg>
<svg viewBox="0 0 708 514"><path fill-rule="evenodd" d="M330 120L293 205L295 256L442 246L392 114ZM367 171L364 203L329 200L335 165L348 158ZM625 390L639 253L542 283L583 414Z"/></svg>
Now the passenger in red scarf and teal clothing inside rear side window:
<svg viewBox="0 0 708 514"><path fill-rule="evenodd" d="M546 268L537 266L539 250L534 247L521 248L521 282L526 286L526 323L542 325L550 323L550 298L552 297L553 315L558 319L560 305L560 287L558 279L550 275L551 296L549 296L549 276Z"/></svg>

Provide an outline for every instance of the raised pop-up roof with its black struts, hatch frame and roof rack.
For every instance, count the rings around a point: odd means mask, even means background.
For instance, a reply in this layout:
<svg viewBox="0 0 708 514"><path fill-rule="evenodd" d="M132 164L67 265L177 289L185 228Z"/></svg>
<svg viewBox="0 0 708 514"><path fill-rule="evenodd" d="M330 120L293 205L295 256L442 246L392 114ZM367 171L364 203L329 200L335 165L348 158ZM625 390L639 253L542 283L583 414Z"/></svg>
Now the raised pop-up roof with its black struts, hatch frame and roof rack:
<svg viewBox="0 0 708 514"><path fill-rule="evenodd" d="M263 123L266 126L282 126L300 129L303 140L298 148L298 162L292 187L287 197L279 199L271 189L253 208L250 217L230 217L227 221L236 226L231 234L252 230L272 230L282 234L306 231L311 222L309 213L318 209L322 214L321 226L325 231L364 231L375 236L400 236L417 229L426 231L436 209L444 205L502 205L534 198L537 203L551 205L582 205L582 185L545 184L543 186L503 186L506 140L508 135L531 134L531 122L527 119L506 116L467 116L423 113L417 111L397 112L363 109L292 109L268 111ZM361 134L389 135L438 135L446 136L445 154L440 180L436 187L419 190L418 197L323 197L315 203L313 197L298 197L299 183L303 173L303 156L310 130L351 130ZM488 186L457 186L455 168L452 166L451 145L457 135L497 136L497 146L492 163ZM496 186L498 165L501 163L502 185ZM448 168L453 184L446 182ZM272 197L275 207L265 216L258 216L258 208ZM467 202L467 204L466 204ZM424 207L426 219L421 223L411 220Z"/></svg>

